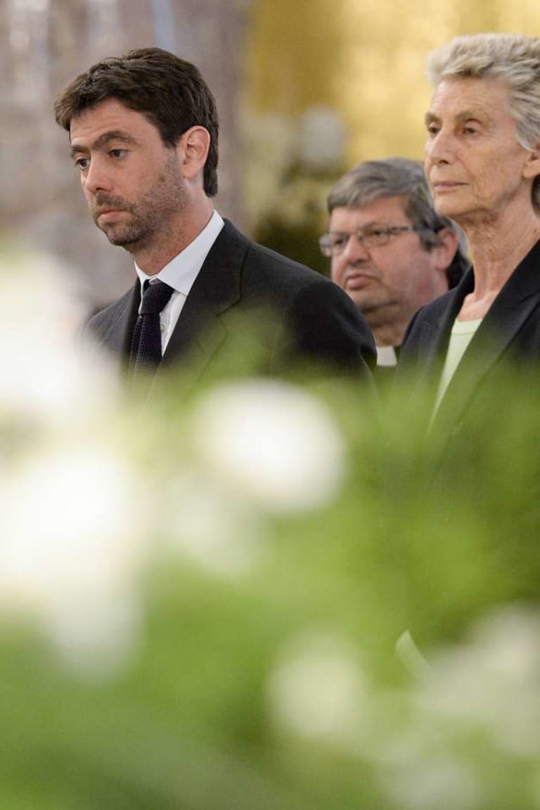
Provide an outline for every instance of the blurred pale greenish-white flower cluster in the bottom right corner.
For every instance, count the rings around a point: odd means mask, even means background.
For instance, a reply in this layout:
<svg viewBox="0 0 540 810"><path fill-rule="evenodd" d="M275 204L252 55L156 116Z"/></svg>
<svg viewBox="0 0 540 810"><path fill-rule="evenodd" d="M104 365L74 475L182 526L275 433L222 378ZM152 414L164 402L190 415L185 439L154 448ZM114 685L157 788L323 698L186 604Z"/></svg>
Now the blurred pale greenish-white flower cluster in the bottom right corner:
<svg viewBox="0 0 540 810"><path fill-rule="evenodd" d="M534 791L538 611L499 608L479 620L465 642L428 650L427 660L393 733L390 726L386 744L372 748L389 799L400 810L472 810L492 804L499 777L517 778ZM382 694L381 706L384 700Z"/></svg>

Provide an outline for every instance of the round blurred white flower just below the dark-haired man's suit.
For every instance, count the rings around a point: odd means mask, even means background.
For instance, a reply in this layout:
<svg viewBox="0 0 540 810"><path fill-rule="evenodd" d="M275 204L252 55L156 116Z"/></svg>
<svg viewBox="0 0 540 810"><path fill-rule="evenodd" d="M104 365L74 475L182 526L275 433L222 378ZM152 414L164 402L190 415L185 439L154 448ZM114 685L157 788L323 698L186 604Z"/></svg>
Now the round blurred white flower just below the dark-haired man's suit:
<svg viewBox="0 0 540 810"><path fill-rule="evenodd" d="M210 471L239 497L272 511L325 505L342 483L346 450L334 420L285 382L216 387L195 412L192 435Z"/></svg>

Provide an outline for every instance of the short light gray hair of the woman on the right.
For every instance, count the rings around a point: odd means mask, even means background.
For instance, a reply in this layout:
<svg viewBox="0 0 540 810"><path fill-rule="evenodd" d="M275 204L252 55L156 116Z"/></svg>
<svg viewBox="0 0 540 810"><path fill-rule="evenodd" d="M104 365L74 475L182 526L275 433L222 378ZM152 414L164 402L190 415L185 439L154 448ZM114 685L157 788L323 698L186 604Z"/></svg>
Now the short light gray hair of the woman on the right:
<svg viewBox="0 0 540 810"><path fill-rule="evenodd" d="M427 58L427 77L436 87L442 79L502 79L509 89L508 106L524 149L540 144L540 39L522 34L456 36ZM533 205L540 211L540 176L533 184Z"/></svg>

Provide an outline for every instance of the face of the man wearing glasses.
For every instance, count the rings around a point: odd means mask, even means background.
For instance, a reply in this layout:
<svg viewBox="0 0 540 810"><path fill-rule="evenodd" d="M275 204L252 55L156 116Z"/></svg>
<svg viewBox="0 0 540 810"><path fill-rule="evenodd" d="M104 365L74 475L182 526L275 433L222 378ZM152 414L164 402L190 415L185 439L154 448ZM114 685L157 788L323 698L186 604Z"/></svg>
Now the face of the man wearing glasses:
<svg viewBox="0 0 540 810"><path fill-rule="evenodd" d="M359 309L379 320L398 313L407 317L433 297L436 282L432 253L417 232L389 237L386 245L368 248L355 237L359 228L411 226L401 197L386 197L359 208L334 208L330 232L351 234L342 253L332 257L332 279L351 296ZM440 274L438 274L440 275Z"/></svg>

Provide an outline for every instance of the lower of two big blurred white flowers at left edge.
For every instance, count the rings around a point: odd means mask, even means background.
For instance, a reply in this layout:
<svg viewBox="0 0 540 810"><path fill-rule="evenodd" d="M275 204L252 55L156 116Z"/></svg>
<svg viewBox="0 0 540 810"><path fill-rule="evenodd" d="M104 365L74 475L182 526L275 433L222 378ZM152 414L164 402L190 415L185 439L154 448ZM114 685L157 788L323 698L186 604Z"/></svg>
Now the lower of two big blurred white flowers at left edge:
<svg viewBox="0 0 540 810"><path fill-rule="evenodd" d="M142 563L134 482L95 446L57 446L0 481L0 603L45 629L75 667L124 658Z"/></svg>

